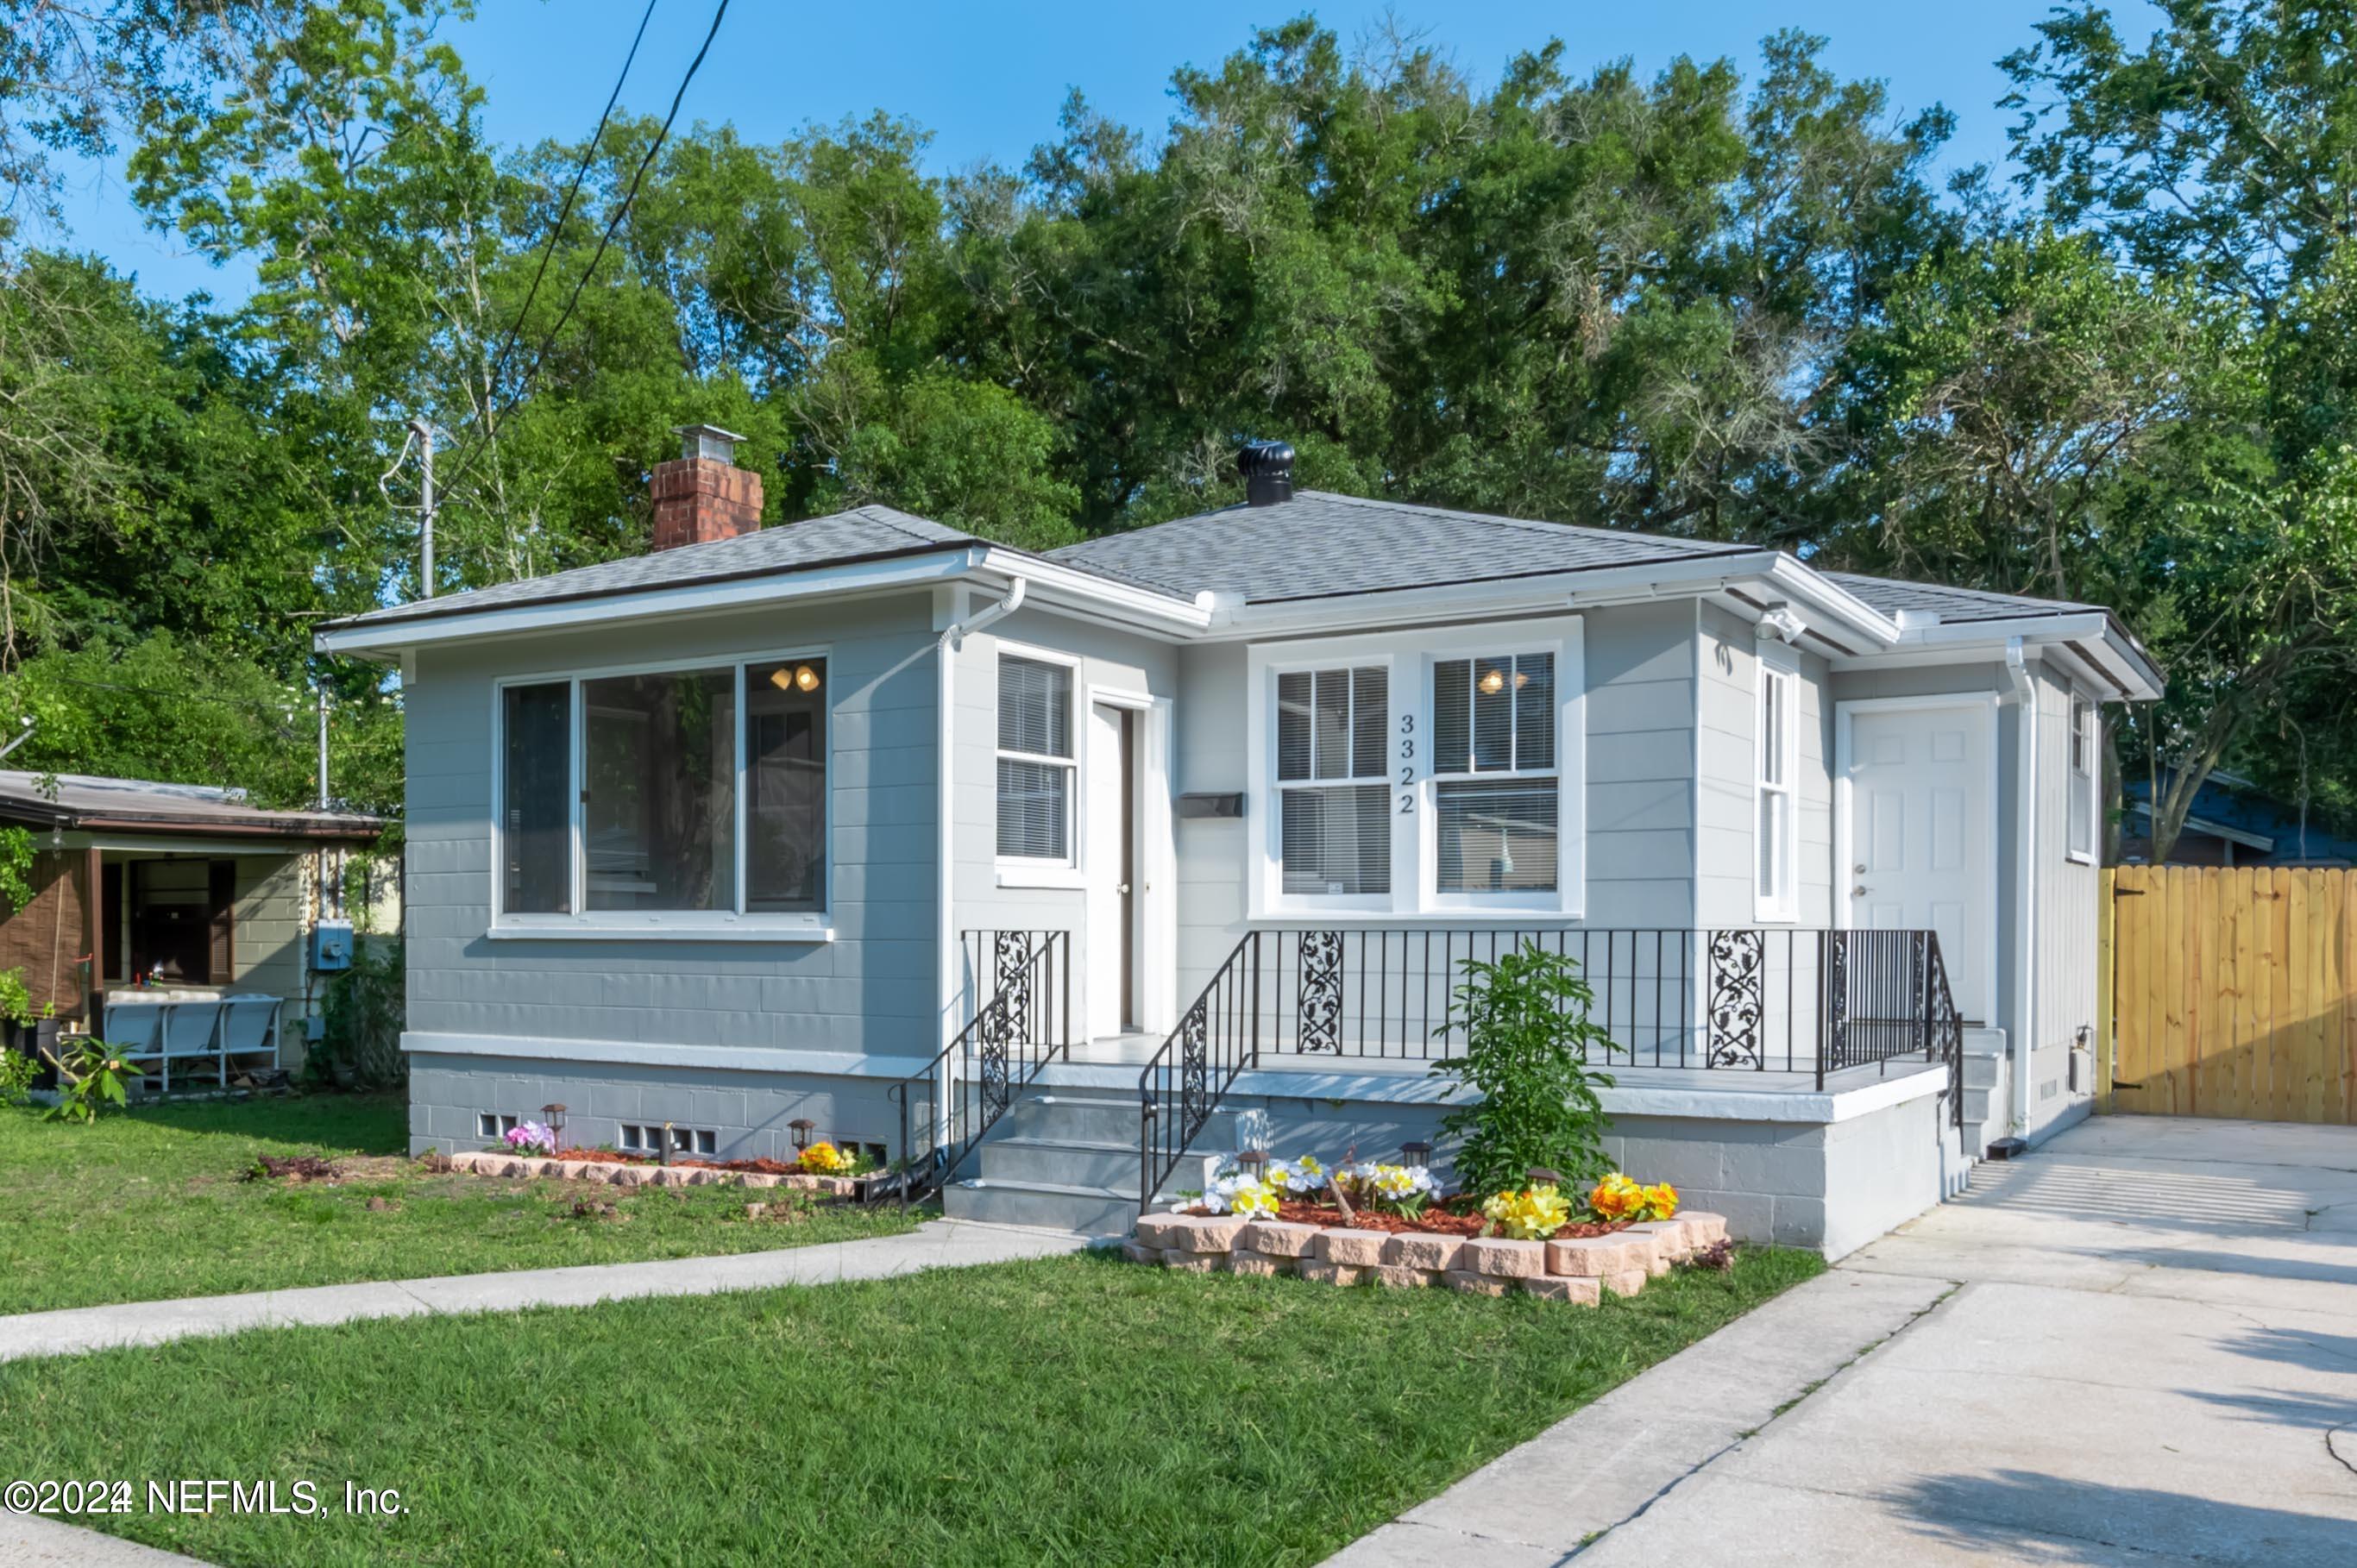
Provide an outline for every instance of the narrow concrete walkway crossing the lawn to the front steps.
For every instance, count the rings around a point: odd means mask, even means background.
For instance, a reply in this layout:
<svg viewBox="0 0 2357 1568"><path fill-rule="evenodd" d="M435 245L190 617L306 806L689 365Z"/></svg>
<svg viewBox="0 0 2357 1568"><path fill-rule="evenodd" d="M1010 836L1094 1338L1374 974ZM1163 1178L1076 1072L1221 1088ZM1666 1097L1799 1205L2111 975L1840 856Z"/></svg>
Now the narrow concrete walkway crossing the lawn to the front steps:
<svg viewBox="0 0 2357 1568"><path fill-rule="evenodd" d="M1021 1257L1080 1252L1087 1238L1065 1231L1025 1231L959 1219L936 1219L905 1236L872 1236L780 1252L681 1257L653 1264L592 1264L582 1269L519 1269L460 1273L436 1280L318 1285L243 1297L189 1297L127 1306L73 1306L0 1318L0 1361L71 1356L115 1344L163 1344L193 1335L236 1335L292 1323L354 1323L424 1313L516 1311L521 1306L589 1306L620 1297L700 1297L717 1290L773 1285L832 1285L882 1280L917 1269L1004 1264Z"/></svg>

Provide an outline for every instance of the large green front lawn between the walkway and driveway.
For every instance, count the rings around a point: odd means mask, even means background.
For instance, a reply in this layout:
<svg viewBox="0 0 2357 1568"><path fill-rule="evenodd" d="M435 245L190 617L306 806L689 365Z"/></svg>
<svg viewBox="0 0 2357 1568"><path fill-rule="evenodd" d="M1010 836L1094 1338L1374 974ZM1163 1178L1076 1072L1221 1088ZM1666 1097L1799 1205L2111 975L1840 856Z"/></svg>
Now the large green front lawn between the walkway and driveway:
<svg viewBox="0 0 2357 1568"><path fill-rule="evenodd" d="M1063 1257L271 1330L0 1368L0 1474L332 1500L90 1521L217 1563L1315 1563L1822 1269L1574 1309Z"/></svg>

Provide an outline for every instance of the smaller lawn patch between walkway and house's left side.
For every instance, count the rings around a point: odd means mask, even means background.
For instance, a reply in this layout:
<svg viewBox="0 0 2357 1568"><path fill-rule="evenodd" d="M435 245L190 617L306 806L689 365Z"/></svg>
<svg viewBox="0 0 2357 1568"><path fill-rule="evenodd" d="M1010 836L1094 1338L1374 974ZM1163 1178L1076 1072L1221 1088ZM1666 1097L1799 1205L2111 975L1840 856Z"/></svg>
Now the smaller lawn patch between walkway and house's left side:
<svg viewBox="0 0 2357 1568"><path fill-rule="evenodd" d="M403 1158L405 1122L396 1099L342 1094L156 1106L92 1127L0 1111L0 1313L761 1252L910 1224L849 1207L752 1221L747 1193L724 1186L434 1177ZM240 1181L262 1153L332 1155L351 1177ZM577 1195L615 1214L575 1217Z"/></svg>

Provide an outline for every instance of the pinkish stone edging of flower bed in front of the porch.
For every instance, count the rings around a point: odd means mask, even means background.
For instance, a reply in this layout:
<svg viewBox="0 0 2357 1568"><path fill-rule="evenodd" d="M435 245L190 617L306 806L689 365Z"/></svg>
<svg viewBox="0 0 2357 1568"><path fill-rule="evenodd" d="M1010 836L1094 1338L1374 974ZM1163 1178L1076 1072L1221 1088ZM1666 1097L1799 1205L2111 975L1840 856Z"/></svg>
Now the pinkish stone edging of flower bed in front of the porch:
<svg viewBox="0 0 2357 1568"><path fill-rule="evenodd" d="M1570 1240L1504 1240L1497 1236L1433 1236L1428 1231L1348 1231L1287 1219L1233 1214L1148 1214L1136 1240L1122 1243L1134 1264L1190 1273L1299 1276L1322 1285L1372 1280L1400 1290L1447 1285L1501 1297L1520 1290L1549 1302L1596 1306L1610 1290L1633 1297L1645 1280L1697 1250L1725 1240L1721 1214L1650 1219Z"/></svg>

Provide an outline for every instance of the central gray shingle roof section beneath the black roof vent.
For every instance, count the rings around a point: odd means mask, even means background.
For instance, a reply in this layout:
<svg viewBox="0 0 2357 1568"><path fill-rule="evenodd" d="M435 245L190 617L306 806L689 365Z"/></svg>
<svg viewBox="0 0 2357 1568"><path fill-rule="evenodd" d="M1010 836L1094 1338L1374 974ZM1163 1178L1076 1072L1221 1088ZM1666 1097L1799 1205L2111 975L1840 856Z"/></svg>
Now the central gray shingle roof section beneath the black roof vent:
<svg viewBox="0 0 2357 1568"><path fill-rule="evenodd" d="M1108 533L1054 549L1049 559L1188 599L1211 589L1270 604L1751 549L1296 490L1270 507L1228 507Z"/></svg>

